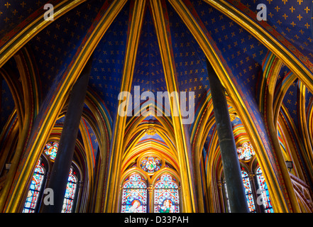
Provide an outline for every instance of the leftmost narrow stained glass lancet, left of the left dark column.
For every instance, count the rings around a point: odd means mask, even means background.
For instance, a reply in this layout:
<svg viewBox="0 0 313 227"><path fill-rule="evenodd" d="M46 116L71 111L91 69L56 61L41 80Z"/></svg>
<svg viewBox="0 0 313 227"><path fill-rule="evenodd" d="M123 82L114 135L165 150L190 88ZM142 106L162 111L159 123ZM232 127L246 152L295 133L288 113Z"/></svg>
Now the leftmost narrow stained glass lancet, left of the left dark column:
<svg viewBox="0 0 313 227"><path fill-rule="evenodd" d="M24 204L23 213L34 213L35 207L38 201L38 196L40 194L40 189L43 184L43 177L45 175L45 169L43 168L41 161L38 160L35 167L35 172L31 180L31 187L28 191L27 199Z"/></svg>

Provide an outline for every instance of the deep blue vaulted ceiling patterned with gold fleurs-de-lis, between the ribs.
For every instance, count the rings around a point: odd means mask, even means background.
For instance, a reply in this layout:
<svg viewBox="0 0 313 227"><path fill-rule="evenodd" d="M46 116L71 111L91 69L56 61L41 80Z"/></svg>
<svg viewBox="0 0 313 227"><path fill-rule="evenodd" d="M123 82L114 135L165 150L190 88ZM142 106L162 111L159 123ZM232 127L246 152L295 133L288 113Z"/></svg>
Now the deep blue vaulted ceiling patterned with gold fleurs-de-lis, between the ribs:
<svg viewBox="0 0 313 227"><path fill-rule="evenodd" d="M0 38L1 35L11 31L16 24L27 18L32 11L43 6L43 2L40 1L32 1L32 4L27 1L23 8L21 6L23 2L8 0L8 3L11 4L9 8L4 5L4 2L1 2ZM128 18L130 16L129 2L123 7L114 23L111 24L109 30L106 31L97 45L89 79L89 89L96 92L104 101L111 118L114 118L116 114L117 96L121 92ZM258 82L263 74L262 62L268 52L267 48L253 35L212 8L212 6L209 6L209 4L204 3L204 1L191 2L205 28L212 35L217 48L221 51L221 55L229 65L232 74L234 74L234 80L236 80L248 104L251 105L251 109L258 111L259 100L256 92ZM257 4L266 4L268 6L268 23L313 62L313 39L310 32L313 11L311 1L302 1L299 4L297 1L241 0L241 3L248 6L252 11L256 11ZM65 72L67 65L72 61L73 55L82 43L82 38L92 25L102 4L104 4L104 1L86 1L55 20L28 43L28 47L32 50L37 63L42 99L45 99L49 92L52 94L57 87L62 73ZM180 16L177 15L168 2L166 6L170 20L170 35L177 70L177 84L180 91L194 92L194 106L197 109L197 106L201 104L207 92L209 92L205 55L180 19ZM311 10L306 10L307 7ZM18 11L20 18L13 16L14 9ZM6 17L9 20L4 21ZM168 90L160 57L160 47L153 24L153 18L149 7L147 7L133 74L132 94L134 86L140 86L141 92L151 91L155 96L158 91ZM283 66L278 78L278 86L288 72L290 70ZM2 83L2 91L4 91L4 94L9 93L4 83ZM8 99L11 99L9 94L6 95L8 95ZM4 97L1 96L2 99L5 99ZM311 94L308 92L307 100L310 97ZM290 100L290 103L288 100ZM297 111L296 101L297 86L292 86L283 102L291 115L294 111ZM2 103L3 101L1 101L1 113L4 113L6 108L2 106ZM258 121L261 120L258 119ZM297 121L297 116L294 117L294 121Z"/></svg>

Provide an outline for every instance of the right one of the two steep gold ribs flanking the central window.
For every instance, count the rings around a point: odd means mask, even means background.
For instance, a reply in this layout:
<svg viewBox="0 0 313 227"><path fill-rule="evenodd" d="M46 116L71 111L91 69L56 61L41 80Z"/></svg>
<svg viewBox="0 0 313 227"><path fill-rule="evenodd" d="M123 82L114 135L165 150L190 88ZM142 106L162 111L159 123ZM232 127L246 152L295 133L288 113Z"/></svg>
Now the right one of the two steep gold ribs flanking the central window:
<svg viewBox="0 0 313 227"><path fill-rule="evenodd" d="M150 5L153 14L153 21L155 24L155 32L158 36L158 43L160 46L160 55L163 62L166 84L170 93L179 92L176 83L175 64L172 59L172 46L168 39L165 17L163 14L163 6L165 5L165 1L161 2L160 0L150 0ZM189 153L187 148L188 146L185 138L185 128L182 125L182 115L180 113L178 97L175 97L173 101L170 100L170 109L175 131L175 142L180 168L185 169L184 172L180 172L180 184L182 187L183 196L182 211L187 213L195 212L196 207L192 184L192 169L190 167Z"/></svg>

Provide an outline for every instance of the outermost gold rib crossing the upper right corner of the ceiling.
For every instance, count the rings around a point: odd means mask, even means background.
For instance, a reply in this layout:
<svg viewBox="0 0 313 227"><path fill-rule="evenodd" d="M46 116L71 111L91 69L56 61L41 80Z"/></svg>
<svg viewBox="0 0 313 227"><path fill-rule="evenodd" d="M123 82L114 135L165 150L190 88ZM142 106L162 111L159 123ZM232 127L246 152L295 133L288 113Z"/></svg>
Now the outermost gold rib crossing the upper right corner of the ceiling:
<svg viewBox="0 0 313 227"><path fill-rule="evenodd" d="M251 33L256 39L263 43L273 54L280 58L294 74L299 77L305 86L313 91L313 65L312 62L305 59L291 43L282 37L274 28L268 25L266 21L256 22L256 13L248 9L241 2L231 0L204 0L232 21L238 23ZM243 11L239 11L241 8ZM243 13L244 12L244 13Z"/></svg>

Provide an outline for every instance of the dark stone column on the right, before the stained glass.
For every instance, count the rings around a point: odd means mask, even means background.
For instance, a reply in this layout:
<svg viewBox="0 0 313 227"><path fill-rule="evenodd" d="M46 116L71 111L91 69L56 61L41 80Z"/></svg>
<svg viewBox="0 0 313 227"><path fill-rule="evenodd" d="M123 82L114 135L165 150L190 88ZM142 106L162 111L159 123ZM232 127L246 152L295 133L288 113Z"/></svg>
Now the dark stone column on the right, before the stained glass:
<svg viewBox="0 0 313 227"><path fill-rule="evenodd" d="M207 70L231 213L248 213L225 90L208 60Z"/></svg>

